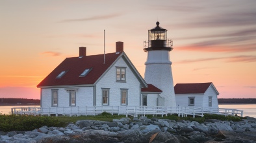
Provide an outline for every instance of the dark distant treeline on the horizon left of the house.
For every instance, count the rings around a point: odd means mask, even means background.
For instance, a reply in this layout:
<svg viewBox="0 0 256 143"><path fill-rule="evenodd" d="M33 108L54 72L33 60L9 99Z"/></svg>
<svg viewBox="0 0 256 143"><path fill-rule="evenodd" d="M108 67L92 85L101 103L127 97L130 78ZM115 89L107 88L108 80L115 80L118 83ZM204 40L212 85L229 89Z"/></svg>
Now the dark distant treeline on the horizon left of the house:
<svg viewBox="0 0 256 143"><path fill-rule="evenodd" d="M40 104L39 99L27 98L0 98L0 104Z"/></svg>

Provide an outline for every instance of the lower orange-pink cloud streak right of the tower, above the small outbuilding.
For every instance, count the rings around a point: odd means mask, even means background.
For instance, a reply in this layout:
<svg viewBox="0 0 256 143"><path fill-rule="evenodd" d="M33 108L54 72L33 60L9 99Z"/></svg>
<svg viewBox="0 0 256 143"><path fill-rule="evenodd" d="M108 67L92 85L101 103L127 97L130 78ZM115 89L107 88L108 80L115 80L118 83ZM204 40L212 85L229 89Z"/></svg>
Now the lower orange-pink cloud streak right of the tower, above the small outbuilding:
<svg viewBox="0 0 256 143"><path fill-rule="evenodd" d="M224 60L225 62L254 62L256 61L256 56L244 55L244 56L231 56L231 57L220 57L220 58L199 58L194 60L176 61L175 63L194 63L194 62L213 61L213 60ZM199 69L196 69L196 70L199 70ZM194 69L194 71L196 70Z"/></svg>

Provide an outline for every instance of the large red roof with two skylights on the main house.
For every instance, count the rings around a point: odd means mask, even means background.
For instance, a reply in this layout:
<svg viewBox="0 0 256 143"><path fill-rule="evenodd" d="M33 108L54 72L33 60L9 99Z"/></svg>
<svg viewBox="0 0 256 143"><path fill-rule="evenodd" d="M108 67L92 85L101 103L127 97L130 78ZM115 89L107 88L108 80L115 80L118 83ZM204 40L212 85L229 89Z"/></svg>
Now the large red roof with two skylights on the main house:
<svg viewBox="0 0 256 143"><path fill-rule="evenodd" d="M37 87L42 86L55 86L55 85L83 85L83 84L94 84L99 77L116 61L118 54L109 53L83 56L82 58L73 57L66 58L58 67L56 67L42 82L40 82ZM79 77L85 69L92 70L86 74L84 77ZM61 78L56 78L58 74L62 71L67 71Z"/></svg>

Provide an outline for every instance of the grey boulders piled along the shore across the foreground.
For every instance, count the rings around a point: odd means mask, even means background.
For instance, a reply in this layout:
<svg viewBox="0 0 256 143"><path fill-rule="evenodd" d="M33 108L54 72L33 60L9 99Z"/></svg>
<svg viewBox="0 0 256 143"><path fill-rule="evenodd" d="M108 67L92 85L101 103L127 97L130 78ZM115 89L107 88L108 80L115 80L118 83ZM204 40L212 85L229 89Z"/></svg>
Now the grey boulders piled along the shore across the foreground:
<svg viewBox="0 0 256 143"><path fill-rule="evenodd" d="M158 118L121 118L112 122L78 120L66 127L40 127L33 131L0 131L0 143L37 142L256 142L256 119L240 122L205 120L202 124L188 120Z"/></svg>

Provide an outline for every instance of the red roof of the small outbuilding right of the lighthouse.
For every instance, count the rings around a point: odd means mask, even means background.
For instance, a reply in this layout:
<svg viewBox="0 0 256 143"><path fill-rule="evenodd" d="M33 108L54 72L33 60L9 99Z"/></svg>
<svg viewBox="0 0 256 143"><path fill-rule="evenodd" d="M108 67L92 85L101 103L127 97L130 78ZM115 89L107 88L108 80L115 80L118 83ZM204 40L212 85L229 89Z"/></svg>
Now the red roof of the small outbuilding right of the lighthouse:
<svg viewBox="0 0 256 143"><path fill-rule="evenodd" d="M205 93L212 83L177 83L174 86L175 94ZM214 87L215 88L215 87ZM218 93L218 91L216 91Z"/></svg>

